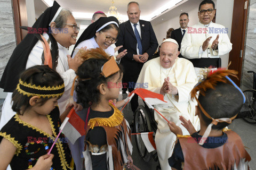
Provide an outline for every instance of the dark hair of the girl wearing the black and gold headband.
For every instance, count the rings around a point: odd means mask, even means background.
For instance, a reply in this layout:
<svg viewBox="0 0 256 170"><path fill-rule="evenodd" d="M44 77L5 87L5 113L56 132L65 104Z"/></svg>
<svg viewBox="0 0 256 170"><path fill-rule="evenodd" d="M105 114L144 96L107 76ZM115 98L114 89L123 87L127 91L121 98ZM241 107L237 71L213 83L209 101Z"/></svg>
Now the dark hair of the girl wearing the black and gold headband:
<svg viewBox="0 0 256 170"><path fill-rule="evenodd" d="M20 79L22 82L35 84L36 86L41 87L52 87L63 84L63 79L60 77L60 74L47 65L36 65L30 67L20 74ZM12 94L13 111L17 112L19 115L23 115L26 109L30 107L29 100L31 97L33 96L28 97L15 89ZM47 100L49 100L49 98L42 98L42 100L39 101L40 105L42 106Z"/></svg>

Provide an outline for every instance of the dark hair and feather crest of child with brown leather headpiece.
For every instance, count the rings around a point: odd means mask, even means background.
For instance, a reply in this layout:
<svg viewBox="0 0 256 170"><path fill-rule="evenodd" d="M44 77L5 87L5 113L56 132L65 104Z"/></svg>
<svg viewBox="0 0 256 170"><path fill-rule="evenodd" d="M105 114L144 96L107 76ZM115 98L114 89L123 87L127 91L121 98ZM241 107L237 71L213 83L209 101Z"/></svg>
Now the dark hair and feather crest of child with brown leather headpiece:
<svg viewBox="0 0 256 170"><path fill-rule="evenodd" d="M100 48L87 50L86 53L85 56L89 57L89 59L79 66L77 70L79 78L76 92L77 102L82 103L84 107L89 107L92 103L99 103L100 101L99 84L107 84L118 73L120 73L119 79L121 79L123 69L118 64L119 71L105 78L100 74L101 67L108 61L107 58L109 56Z"/></svg>

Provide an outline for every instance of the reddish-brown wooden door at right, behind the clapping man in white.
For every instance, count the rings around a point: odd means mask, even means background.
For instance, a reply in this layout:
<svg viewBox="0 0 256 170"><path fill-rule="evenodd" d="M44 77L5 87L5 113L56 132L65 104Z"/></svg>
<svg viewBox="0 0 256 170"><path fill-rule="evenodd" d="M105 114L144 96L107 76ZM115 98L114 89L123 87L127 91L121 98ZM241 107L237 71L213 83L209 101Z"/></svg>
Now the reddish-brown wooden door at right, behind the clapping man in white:
<svg viewBox="0 0 256 170"><path fill-rule="evenodd" d="M247 9L249 0L234 0L233 8L233 21L231 30L231 43L233 44L232 50L229 53L229 62L231 65L228 67L230 70L238 71L238 78L232 78L237 86L241 85L241 74L244 57L244 39L247 21Z"/></svg>

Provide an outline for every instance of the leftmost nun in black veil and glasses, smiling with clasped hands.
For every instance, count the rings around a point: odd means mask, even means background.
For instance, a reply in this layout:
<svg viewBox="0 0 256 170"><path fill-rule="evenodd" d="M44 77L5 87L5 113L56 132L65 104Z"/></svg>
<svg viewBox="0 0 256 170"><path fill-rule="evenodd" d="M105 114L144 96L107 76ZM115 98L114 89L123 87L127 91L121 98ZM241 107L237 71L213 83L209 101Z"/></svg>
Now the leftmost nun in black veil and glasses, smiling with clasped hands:
<svg viewBox="0 0 256 170"><path fill-rule="evenodd" d="M28 33L21 43L14 49L9 62L7 63L1 82L0 88L8 92L2 108L2 116L0 120L0 129L15 114L12 111L12 92L17 87L19 73L34 65L51 65L64 80L65 93L58 100L60 114L65 111L66 105L69 103L68 98L71 91L72 83L76 77L75 71L81 65L79 57L71 58L68 55L70 45L76 43L79 28L77 27L74 16L69 10L62 8L54 1L53 6L47 8L44 13L39 16L33 25L33 29L45 30L41 35ZM51 62L44 61L44 43L38 40L42 38L49 43L51 47Z"/></svg>

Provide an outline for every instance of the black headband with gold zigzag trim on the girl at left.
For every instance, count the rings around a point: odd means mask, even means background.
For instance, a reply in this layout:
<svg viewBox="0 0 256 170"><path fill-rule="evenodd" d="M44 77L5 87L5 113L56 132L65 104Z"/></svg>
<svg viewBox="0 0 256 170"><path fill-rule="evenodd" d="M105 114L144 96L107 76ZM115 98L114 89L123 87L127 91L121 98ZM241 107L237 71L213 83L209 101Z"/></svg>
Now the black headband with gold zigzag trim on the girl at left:
<svg viewBox="0 0 256 170"><path fill-rule="evenodd" d="M59 86L52 87L41 87L36 86L36 84L23 82L21 79L19 80L19 84L17 85L16 90L22 95L30 96L39 96L42 98L54 98L61 97L64 93L65 86L64 83Z"/></svg>

